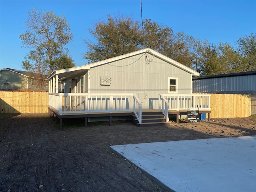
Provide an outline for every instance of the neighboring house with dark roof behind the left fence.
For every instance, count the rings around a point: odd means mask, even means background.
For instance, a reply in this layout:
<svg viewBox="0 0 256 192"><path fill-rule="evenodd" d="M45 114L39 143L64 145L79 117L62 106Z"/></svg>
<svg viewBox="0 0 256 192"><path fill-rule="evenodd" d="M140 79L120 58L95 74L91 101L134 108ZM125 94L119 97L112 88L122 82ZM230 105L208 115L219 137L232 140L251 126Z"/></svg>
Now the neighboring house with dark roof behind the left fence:
<svg viewBox="0 0 256 192"><path fill-rule="evenodd" d="M38 78L38 74L3 68L0 70L1 91L46 92L48 81Z"/></svg>

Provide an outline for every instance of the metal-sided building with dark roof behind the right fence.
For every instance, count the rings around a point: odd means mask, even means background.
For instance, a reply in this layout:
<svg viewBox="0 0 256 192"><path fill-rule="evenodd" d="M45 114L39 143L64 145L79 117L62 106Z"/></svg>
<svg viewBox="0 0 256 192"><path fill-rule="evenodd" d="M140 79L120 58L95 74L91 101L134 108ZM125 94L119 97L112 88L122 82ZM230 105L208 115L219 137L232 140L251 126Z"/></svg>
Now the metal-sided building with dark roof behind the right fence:
<svg viewBox="0 0 256 192"><path fill-rule="evenodd" d="M193 92L252 94L251 114L256 114L256 71L194 77Z"/></svg>

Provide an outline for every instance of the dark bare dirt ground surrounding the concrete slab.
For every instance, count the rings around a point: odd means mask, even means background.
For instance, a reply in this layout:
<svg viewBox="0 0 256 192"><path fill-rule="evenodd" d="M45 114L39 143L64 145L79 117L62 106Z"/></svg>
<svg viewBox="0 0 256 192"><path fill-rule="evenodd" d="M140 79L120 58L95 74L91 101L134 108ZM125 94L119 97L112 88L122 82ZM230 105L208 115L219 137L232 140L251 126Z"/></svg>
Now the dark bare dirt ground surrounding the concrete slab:
<svg viewBox="0 0 256 192"><path fill-rule="evenodd" d="M1 192L164 192L110 145L256 135L256 118L138 127L131 122L63 121L1 114Z"/></svg>

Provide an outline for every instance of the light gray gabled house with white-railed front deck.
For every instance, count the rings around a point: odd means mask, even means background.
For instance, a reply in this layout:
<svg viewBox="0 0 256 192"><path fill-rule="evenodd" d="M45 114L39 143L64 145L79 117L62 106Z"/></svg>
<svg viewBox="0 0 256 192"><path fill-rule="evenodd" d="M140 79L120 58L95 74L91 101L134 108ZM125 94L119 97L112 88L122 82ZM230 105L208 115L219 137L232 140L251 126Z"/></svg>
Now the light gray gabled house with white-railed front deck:
<svg viewBox="0 0 256 192"><path fill-rule="evenodd" d="M178 116L189 107L210 110L210 103L201 105L192 95L192 77L199 75L154 50L143 49L52 72L47 78L49 110L59 118L64 114L133 112L141 123L139 110L150 109L162 111L168 121L168 111ZM58 82L59 94L55 93Z"/></svg>

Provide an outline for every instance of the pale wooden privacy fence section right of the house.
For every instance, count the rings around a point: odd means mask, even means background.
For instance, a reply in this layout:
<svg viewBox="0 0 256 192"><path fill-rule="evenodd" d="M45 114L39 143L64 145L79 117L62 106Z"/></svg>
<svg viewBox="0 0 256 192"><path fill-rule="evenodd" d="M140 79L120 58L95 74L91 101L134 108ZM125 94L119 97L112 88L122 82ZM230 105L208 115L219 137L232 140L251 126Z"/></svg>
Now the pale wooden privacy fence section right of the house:
<svg viewBox="0 0 256 192"><path fill-rule="evenodd" d="M252 96L211 94L210 118L235 118L251 115Z"/></svg>

